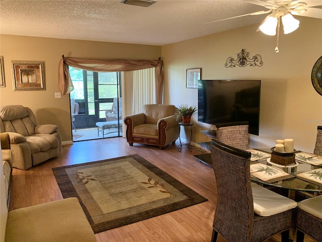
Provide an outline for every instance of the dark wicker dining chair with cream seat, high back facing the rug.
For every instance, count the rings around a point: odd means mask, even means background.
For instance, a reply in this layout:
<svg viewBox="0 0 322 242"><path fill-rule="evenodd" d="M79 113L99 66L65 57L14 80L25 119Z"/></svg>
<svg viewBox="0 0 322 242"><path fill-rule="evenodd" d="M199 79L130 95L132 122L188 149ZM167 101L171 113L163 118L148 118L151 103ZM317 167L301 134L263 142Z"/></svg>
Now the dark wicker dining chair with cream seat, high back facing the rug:
<svg viewBox="0 0 322 242"><path fill-rule="evenodd" d="M263 242L282 232L288 241L297 203L251 183L251 153L210 141L217 205L212 242L218 233L229 242Z"/></svg>

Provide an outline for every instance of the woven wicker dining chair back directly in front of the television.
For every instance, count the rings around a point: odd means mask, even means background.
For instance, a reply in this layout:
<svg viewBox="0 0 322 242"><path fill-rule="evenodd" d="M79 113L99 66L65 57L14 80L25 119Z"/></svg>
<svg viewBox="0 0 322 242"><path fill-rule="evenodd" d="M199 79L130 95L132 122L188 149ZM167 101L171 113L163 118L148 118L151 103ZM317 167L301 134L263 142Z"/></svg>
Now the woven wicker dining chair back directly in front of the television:
<svg viewBox="0 0 322 242"><path fill-rule="evenodd" d="M247 121L216 124L217 140L226 145L247 150L249 148L248 126Z"/></svg>

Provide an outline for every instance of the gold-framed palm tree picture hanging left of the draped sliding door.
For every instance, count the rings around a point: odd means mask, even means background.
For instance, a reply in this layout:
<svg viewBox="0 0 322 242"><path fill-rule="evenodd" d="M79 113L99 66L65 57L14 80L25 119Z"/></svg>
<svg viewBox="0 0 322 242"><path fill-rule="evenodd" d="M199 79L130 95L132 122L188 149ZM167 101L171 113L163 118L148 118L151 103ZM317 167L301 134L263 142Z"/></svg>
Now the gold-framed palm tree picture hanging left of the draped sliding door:
<svg viewBox="0 0 322 242"><path fill-rule="evenodd" d="M44 62L12 61L14 91L45 90Z"/></svg>

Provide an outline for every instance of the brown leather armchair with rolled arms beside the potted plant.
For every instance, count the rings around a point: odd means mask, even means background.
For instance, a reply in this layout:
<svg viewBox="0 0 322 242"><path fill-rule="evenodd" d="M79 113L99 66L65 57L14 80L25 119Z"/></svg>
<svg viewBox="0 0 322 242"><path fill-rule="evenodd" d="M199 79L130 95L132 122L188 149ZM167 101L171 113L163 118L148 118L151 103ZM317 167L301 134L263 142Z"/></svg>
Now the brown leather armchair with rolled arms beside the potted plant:
<svg viewBox="0 0 322 242"><path fill-rule="evenodd" d="M146 104L143 113L128 115L124 118L126 140L133 143L158 146L161 150L179 138L180 127L174 105Z"/></svg>

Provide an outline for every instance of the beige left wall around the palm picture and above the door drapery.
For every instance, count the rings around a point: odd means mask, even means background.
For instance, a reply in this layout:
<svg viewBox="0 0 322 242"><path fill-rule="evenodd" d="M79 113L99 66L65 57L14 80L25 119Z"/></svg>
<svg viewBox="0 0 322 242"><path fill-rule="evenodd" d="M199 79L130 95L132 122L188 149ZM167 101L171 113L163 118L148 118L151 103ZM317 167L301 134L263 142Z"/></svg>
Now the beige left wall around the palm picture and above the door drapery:
<svg viewBox="0 0 322 242"><path fill-rule="evenodd" d="M0 88L0 105L30 107L39 124L59 126L62 141L71 141L69 95L54 98L58 87L58 62L62 54L100 59L158 59L161 47L82 40L0 35L0 55L4 56L6 87ZM13 91L11 61L44 61L46 90Z"/></svg>

